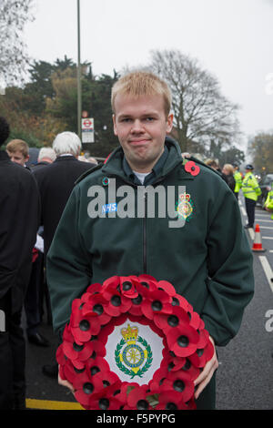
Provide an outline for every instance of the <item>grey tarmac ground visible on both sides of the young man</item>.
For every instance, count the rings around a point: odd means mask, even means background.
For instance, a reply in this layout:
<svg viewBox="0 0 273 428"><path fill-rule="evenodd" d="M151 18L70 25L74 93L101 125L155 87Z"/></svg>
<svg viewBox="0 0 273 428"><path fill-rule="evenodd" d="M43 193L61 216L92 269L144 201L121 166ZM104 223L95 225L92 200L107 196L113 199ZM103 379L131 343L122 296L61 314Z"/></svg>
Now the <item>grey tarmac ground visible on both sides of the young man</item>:
<svg viewBox="0 0 273 428"><path fill-rule="evenodd" d="M247 223L244 202L239 200L243 223ZM268 329L268 311L273 312L273 220L257 207L256 223L261 230L265 252L253 252L255 295L249 303L238 335L226 347L217 348L218 410L273 409L273 320ZM227 225L232 228L232 225ZM247 230L252 248L255 231ZM257 238L257 237L256 237ZM23 319L24 324L24 319ZM55 361L56 337L51 325L43 321L40 332L50 341L49 348L39 348L26 341L26 392L29 409L80 409L74 396L55 379L42 372L44 364Z"/></svg>

